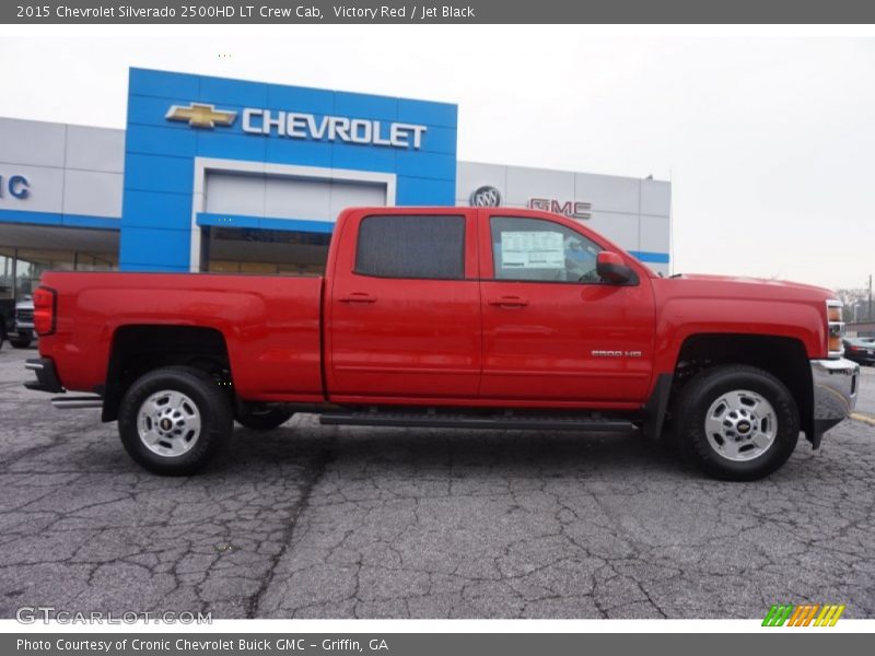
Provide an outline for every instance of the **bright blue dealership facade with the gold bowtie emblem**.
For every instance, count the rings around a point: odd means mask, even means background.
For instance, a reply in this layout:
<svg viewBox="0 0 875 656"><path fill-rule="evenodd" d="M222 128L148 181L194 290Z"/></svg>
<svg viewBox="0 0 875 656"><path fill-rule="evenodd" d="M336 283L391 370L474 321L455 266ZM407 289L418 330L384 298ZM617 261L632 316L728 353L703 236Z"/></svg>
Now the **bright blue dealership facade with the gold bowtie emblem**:
<svg viewBox="0 0 875 656"><path fill-rule="evenodd" d="M120 268L198 270L208 226L330 232L314 185L323 197L361 184L385 186L389 204L452 206L456 122L452 104L131 69ZM210 211L214 172L305 183L308 209Z"/></svg>

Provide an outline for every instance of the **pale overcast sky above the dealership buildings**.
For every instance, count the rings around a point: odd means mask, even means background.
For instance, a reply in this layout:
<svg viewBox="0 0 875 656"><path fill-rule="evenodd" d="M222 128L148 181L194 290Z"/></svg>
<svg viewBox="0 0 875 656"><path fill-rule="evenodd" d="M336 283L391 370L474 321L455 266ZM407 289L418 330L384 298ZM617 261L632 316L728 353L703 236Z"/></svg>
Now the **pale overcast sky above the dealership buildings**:
<svg viewBox="0 0 875 656"><path fill-rule="evenodd" d="M872 38L289 26L0 37L0 116L117 128L129 66L457 103L460 160L670 179L675 272L875 272Z"/></svg>

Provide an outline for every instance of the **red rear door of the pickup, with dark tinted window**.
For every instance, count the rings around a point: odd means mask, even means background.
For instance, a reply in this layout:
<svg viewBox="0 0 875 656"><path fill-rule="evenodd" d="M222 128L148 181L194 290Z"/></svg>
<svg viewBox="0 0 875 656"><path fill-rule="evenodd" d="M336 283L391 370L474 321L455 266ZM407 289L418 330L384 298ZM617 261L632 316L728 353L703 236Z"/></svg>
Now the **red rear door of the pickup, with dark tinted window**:
<svg viewBox="0 0 875 656"><path fill-rule="evenodd" d="M480 378L476 210L351 214L326 307L332 401L475 397Z"/></svg>

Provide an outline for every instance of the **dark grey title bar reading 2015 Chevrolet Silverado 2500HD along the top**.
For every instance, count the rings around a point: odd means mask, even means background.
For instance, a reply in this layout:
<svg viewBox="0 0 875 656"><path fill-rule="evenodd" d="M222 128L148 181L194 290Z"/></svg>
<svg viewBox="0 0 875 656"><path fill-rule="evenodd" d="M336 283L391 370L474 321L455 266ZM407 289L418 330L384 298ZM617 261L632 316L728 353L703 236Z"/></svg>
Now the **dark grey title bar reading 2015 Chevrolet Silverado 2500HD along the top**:
<svg viewBox="0 0 875 656"><path fill-rule="evenodd" d="M294 3L288 0L36 0L0 3L15 24L852 24L875 23L861 0L383 0Z"/></svg>

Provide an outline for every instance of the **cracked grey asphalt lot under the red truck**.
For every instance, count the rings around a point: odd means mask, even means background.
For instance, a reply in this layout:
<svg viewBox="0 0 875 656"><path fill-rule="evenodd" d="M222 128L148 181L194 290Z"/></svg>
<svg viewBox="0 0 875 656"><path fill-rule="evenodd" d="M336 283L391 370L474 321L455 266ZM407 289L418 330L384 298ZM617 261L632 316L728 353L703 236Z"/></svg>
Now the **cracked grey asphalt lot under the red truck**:
<svg viewBox="0 0 875 656"><path fill-rule="evenodd" d="M637 434L235 431L201 476L140 470L96 410L21 387L0 351L0 617L875 617L875 426L765 481L684 469ZM861 386L875 403L875 370Z"/></svg>

